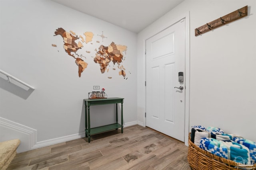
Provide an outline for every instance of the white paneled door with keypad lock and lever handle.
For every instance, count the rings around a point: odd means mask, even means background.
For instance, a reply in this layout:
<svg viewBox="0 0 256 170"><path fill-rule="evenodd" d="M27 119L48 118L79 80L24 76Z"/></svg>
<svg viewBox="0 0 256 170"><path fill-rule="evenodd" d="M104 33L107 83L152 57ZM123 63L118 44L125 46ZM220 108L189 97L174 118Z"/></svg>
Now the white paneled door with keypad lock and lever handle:
<svg viewBox="0 0 256 170"><path fill-rule="evenodd" d="M184 82L178 81L183 72ZM146 126L184 142L185 19L146 40ZM180 90L174 87L182 86Z"/></svg>

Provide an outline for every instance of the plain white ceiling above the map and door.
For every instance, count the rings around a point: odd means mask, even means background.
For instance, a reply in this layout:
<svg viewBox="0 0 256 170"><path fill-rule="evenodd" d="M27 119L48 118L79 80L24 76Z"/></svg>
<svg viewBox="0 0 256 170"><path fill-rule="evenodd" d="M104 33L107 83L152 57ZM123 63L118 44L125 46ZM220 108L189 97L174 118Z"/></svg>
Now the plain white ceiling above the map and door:
<svg viewBox="0 0 256 170"><path fill-rule="evenodd" d="M138 33L184 0L53 0Z"/></svg>

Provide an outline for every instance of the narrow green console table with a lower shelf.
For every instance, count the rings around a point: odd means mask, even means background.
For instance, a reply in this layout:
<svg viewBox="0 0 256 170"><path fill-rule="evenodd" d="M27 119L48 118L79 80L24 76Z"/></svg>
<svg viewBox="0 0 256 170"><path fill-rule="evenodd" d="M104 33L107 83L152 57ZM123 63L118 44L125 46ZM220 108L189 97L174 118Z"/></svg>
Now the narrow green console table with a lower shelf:
<svg viewBox="0 0 256 170"><path fill-rule="evenodd" d="M85 137L88 137L88 143L90 143L90 141L91 141L91 135L96 134L96 133L102 133L102 132L118 129L120 127L121 127L121 133L123 133L123 102L124 102L124 98L84 99ZM121 104L121 125L118 123L118 116L117 116L117 104L118 103ZM91 128L90 106L102 105L102 104L116 104L116 123Z"/></svg>

